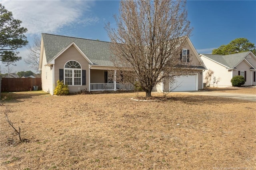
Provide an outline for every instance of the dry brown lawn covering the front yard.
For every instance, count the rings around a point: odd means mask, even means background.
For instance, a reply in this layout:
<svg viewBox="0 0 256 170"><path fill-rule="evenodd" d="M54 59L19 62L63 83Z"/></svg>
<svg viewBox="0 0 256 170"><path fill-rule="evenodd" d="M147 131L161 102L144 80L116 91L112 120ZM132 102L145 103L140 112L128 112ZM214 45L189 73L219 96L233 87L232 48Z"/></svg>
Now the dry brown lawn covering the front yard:
<svg viewBox="0 0 256 170"><path fill-rule="evenodd" d="M0 169L256 169L255 102L182 93L151 102L132 101L135 93L4 95ZM18 143L6 108L30 142Z"/></svg>

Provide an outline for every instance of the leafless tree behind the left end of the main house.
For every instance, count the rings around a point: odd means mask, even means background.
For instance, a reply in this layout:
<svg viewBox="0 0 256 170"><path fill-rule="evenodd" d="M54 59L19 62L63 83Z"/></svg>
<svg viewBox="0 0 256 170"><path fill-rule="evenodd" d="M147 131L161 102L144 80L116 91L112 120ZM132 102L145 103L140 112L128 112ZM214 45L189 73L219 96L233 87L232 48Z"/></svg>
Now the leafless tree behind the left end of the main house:
<svg viewBox="0 0 256 170"><path fill-rule="evenodd" d="M36 73L39 70L41 40L38 36L34 36L32 45L28 45L29 51L27 58L24 58L26 65L29 65Z"/></svg>

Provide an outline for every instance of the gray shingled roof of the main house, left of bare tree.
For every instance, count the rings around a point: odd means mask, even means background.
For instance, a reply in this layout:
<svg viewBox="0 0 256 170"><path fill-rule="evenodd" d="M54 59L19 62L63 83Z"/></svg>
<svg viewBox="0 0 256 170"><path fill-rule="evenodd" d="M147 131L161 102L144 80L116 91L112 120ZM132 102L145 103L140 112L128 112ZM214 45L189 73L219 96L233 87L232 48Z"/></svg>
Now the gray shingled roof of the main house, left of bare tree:
<svg viewBox="0 0 256 170"><path fill-rule="evenodd" d="M47 63L71 43L76 45L95 65L113 66L110 61L110 42L88 40L42 33Z"/></svg>

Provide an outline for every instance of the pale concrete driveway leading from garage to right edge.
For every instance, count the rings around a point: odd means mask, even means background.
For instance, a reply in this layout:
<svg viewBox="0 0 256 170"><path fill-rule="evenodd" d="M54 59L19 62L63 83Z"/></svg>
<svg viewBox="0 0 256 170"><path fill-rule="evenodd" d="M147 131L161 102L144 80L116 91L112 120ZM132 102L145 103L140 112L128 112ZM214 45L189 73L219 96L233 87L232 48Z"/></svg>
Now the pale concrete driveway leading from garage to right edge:
<svg viewBox="0 0 256 170"><path fill-rule="evenodd" d="M256 101L256 95L250 95L250 94L222 93L222 92L215 92L215 91L191 91L191 92L182 92L182 93Z"/></svg>

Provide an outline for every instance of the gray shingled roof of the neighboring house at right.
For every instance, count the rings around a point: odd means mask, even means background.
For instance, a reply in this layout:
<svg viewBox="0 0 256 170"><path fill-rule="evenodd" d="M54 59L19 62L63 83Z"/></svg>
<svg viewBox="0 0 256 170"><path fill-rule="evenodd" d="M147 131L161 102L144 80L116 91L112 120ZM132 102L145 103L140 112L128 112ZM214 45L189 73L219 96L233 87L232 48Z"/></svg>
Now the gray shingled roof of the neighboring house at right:
<svg viewBox="0 0 256 170"><path fill-rule="evenodd" d="M227 66L228 68L234 68L238 63L240 63L250 51L235 53L230 55L214 55L214 54L202 54L205 57L208 57L222 65Z"/></svg>

